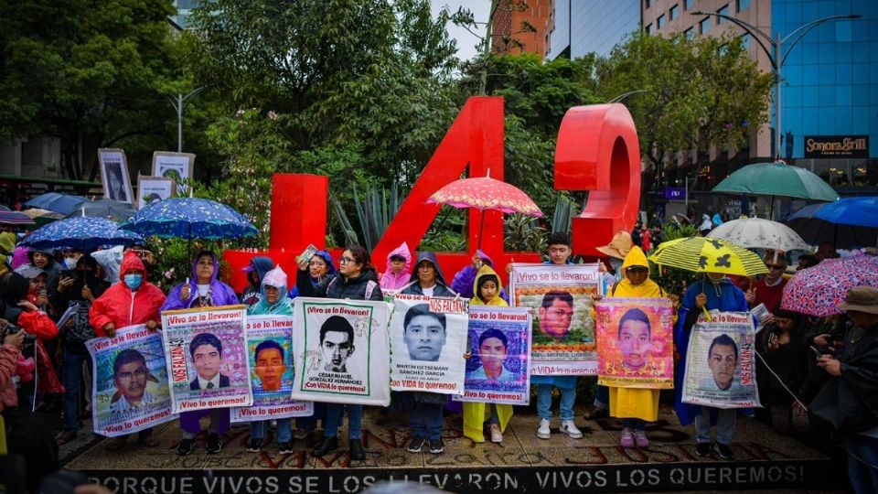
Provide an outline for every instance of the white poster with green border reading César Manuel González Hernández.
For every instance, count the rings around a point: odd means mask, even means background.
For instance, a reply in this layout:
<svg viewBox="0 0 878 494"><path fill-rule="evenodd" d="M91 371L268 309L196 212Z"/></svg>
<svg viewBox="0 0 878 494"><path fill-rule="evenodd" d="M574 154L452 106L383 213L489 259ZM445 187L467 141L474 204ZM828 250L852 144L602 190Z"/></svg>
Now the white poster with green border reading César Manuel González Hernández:
<svg viewBox="0 0 878 494"><path fill-rule="evenodd" d="M294 400L391 403L391 306L383 301L294 300Z"/></svg>

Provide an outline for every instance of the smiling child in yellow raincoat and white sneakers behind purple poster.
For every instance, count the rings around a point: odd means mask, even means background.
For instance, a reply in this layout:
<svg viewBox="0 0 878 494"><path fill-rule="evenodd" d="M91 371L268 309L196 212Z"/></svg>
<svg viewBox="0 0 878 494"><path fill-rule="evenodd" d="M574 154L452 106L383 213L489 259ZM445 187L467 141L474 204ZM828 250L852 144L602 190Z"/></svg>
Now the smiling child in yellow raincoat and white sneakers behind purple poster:
<svg viewBox="0 0 878 494"><path fill-rule="evenodd" d="M502 306L509 304L500 297L500 278L497 273L487 264L483 264L476 274L476 281L473 282L473 293L475 296L469 301L471 306ZM488 349L491 345L502 347L500 351L505 352L505 342L500 338L485 338L480 342L480 347L486 347L486 351L494 351ZM482 349L479 348L481 352ZM470 352L467 352L469 355ZM464 435L469 437L476 443L485 442L485 434L483 424L487 420L490 423L491 442L503 442L503 431L506 430L509 419L512 418L512 405L498 403L464 403Z"/></svg>

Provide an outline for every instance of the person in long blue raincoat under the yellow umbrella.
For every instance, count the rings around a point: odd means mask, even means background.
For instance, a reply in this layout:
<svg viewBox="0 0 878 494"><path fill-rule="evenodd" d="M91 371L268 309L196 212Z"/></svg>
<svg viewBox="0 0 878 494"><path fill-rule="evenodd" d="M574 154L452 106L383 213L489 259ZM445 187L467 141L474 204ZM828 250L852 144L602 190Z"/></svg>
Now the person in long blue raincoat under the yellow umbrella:
<svg viewBox="0 0 878 494"><path fill-rule="evenodd" d="M686 350L692 326L704 310L717 309L720 312L747 312L747 299L744 292L735 286L722 273L702 274L701 281L690 285L680 302L677 327L674 328L674 346L680 353L680 361L674 372L674 403L680 424L695 422L698 456L709 456L711 450L724 460L733 459L729 445L732 444L737 410L719 409L681 403L683 376L686 374ZM716 443L711 446L711 424L716 424Z"/></svg>

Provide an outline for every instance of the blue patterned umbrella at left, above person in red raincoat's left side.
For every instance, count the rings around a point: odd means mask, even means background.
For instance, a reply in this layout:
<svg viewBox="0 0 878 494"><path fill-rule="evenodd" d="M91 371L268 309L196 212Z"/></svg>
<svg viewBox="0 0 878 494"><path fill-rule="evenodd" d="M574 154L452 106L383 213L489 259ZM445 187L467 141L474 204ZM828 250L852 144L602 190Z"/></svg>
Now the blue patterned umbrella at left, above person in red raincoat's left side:
<svg viewBox="0 0 878 494"><path fill-rule="evenodd" d="M90 251L103 245L144 243L143 237L119 230L118 223L89 216L59 220L37 229L20 245L33 249L80 249Z"/></svg>

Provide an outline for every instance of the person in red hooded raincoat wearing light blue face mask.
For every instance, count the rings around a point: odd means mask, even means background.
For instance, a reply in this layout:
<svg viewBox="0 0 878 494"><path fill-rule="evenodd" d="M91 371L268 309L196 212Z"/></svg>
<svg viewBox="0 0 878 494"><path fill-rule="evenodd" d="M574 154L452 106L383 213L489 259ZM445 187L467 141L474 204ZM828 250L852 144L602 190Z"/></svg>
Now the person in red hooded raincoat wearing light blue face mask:
<svg viewBox="0 0 878 494"><path fill-rule="evenodd" d="M96 336L113 338L117 329L135 324L145 324L151 330L158 328L161 321L159 308L165 303L165 294L146 281L145 274L143 261L134 252L125 252L119 268L122 283L107 288L91 303L89 322ZM125 435L113 437L107 449L119 450L127 439ZM138 433L137 441L143 446L158 446L152 428Z"/></svg>

